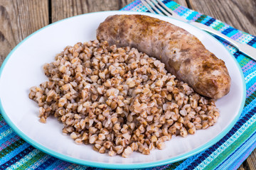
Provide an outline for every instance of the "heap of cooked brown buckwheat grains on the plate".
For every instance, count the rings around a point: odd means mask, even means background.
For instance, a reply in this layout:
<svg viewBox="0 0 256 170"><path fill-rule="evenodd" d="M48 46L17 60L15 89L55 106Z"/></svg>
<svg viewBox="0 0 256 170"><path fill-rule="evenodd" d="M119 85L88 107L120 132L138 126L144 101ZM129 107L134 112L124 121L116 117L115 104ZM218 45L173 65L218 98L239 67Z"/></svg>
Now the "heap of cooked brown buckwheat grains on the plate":
<svg viewBox="0 0 256 170"><path fill-rule="evenodd" d="M40 107L41 123L54 115L76 144L110 156L164 149L172 135L193 135L219 117L213 99L135 48L78 42L43 69L48 81L29 94Z"/></svg>

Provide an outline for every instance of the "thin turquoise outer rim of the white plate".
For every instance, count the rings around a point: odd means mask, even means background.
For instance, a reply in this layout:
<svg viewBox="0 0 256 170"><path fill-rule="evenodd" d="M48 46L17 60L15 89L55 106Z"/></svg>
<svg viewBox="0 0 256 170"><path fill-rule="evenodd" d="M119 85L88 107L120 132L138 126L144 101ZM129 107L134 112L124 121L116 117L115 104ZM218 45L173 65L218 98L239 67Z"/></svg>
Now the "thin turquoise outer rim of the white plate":
<svg viewBox="0 0 256 170"><path fill-rule="evenodd" d="M138 13L138 14L151 14L151 15L156 15L156 14L153 14L153 13L145 13L145 12L136 12L136 11L100 11L100 12L95 12L95 13L113 13L113 12L116 12L116 13ZM84 15L90 15L90 14L93 14L93 13L84 13L82 15L78 15L78 16L84 16ZM70 17L70 18L75 18L75 17L78 17L78 16L73 16L73 17ZM156 15L157 16L157 15ZM169 18L167 16L162 16L162 17L166 17L166 18ZM28 35L28 37L26 37L24 40L22 40L21 42L18 43L18 45L16 45L16 47L14 47L13 50L11 50L11 52L9 53L9 55L7 55L6 59L4 60L3 64L1 64L1 68L0 68L0 82L1 82L1 73L3 72L4 70L4 66L6 65L6 63L8 62L9 58L11 57L12 53L23 43L25 42L26 40L28 40L28 38L30 38L31 36L33 36L34 34L40 32L41 30L45 29L45 28L48 28L49 26L53 26L55 25L56 23L59 23L59 22L62 22L62 21L66 21L70 18L65 18L63 20L60 20L60 21L57 21L55 23L50 23L48 26L45 26L43 28L40 28L39 30L36 30L34 33L32 33L31 35ZM171 19L174 19L176 21L179 21L178 19L176 18L171 18ZM181 21L183 22L183 21ZM186 23L186 22L183 22L183 23ZM189 24L189 23L187 23ZM192 25L191 25L192 26ZM197 28L196 26L193 26L194 28L200 30L199 28ZM203 31L203 30L201 30ZM209 34L210 35L210 34ZM213 35L210 35L212 38ZM215 39L215 38L214 38ZM216 40L216 39L215 39ZM220 43L218 40L216 40L218 43ZM225 46L220 43L220 45L222 45L224 48ZM225 48L225 50L228 51L228 49ZM228 51L230 53L230 51ZM208 149L209 147L211 147L212 145L214 145L216 142L218 142L221 138L223 138L230 130L231 128L233 128L233 126L235 125L235 123L238 121L238 118L240 117L241 113L242 113L242 109L245 105L245 96L246 96L246 86L245 86L245 78L244 78L244 74L242 72L242 69L240 67L240 65L238 64L237 60L235 59L235 57L230 53L230 55L233 57L233 60L235 60L235 63L237 64L237 67L240 71L240 76L241 76L241 79L242 79L242 89L243 89L243 94L242 94L242 103L240 105L240 110L238 111L238 115L234 118L233 122L230 123L230 125L228 125L228 127L223 131L223 132L220 132L220 134L218 136L216 136L212 141L204 144L203 146L201 147L198 147L197 149L194 149L193 151L191 152L188 152L186 154L181 154L180 156L178 157L174 157L174 158L171 158L171 159L165 159L165 160L161 160L161 161L157 161L157 162L151 162L151 163L142 163L142 164L106 164L106 163L97 163L97 162L89 162L89 161L85 161L85 160L82 160L82 159L77 159L77 158L73 158L73 157L69 157L69 156L66 156L64 154L60 154L58 152L55 152L51 149L48 149L46 147L44 147L43 145L40 145L39 143L37 142L34 142L33 140L31 140L30 137L28 137L27 135L25 135L21 130L19 130L16 125L14 123L11 122L11 119L8 117L8 115L5 113L4 111L4 108L2 106L2 103L1 103L1 96L0 96L0 111L1 111L1 115L3 115L4 117L4 120L6 120L6 123L8 123L8 125L17 133L17 135L19 135L21 138L23 138L23 140L25 140L26 142L28 142L29 144L31 144L33 147L36 147L37 149L40 149L42 152L46 152L47 154L50 154L52 155L53 157L57 157L59 159L63 159L67 162L72 162L72 163L75 163L75 164L82 164L82 165L86 165L86 166L94 166L94 167L100 167L100 168L109 168L109 169L116 169L115 166L119 166L118 168L119 169L133 169L133 168L147 168L147 167L153 167L153 166L161 166L161 165L164 165L164 164L170 164L170 163L174 163L174 162L178 162L182 159L186 159L188 157L191 157L192 155L194 154L197 154L199 152L202 152L203 150L205 149ZM96 164L95 164L96 163Z"/></svg>

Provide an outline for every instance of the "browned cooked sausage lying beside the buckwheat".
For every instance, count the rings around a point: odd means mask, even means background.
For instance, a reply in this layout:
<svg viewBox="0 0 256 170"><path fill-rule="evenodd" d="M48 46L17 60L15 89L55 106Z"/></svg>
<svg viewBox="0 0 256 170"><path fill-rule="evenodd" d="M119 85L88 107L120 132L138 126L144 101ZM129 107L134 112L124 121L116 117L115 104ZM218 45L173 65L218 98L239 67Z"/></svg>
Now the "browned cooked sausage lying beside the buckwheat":
<svg viewBox="0 0 256 170"><path fill-rule="evenodd" d="M198 38L171 23L143 15L114 15L100 23L97 39L117 47L136 47L166 64L167 71L198 94L221 98L230 91L225 62Z"/></svg>

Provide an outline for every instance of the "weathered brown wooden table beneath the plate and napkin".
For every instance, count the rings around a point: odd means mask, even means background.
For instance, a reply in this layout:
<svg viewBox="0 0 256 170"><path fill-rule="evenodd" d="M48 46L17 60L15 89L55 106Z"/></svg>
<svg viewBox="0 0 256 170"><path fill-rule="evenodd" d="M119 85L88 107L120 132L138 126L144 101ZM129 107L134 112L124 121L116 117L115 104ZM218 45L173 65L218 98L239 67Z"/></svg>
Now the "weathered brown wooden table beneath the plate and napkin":
<svg viewBox="0 0 256 170"><path fill-rule="evenodd" d="M0 66L9 52L31 33L63 18L95 11L119 10L133 0L0 0ZM176 0L256 35L255 0ZM256 169L256 149L239 169Z"/></svg>

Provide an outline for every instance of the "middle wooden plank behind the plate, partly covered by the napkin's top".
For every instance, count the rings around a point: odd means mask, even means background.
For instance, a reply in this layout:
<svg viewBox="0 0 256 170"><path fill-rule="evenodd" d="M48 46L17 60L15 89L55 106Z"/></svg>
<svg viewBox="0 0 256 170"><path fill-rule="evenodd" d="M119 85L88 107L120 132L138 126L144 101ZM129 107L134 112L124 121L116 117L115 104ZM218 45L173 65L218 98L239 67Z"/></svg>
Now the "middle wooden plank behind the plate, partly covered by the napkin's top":
<svg viewBox="0 0 256 170"><path fill-rule="evenodd" d="M97 11L119 10L134 0L52 0L52 21L59 21L82 13ZM186 6L186 0L176 0L178 4Z"/></svg>

